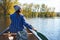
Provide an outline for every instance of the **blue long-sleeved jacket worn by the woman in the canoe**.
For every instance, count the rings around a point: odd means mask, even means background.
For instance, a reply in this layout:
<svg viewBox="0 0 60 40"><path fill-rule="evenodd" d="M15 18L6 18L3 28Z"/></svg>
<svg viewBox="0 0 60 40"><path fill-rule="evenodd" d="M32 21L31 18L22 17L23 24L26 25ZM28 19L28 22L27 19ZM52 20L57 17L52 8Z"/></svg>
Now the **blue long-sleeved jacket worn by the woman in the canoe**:
<svg viewBox="0 0 60 40"><path fill-rule="evenodd" d="M31 25L26 23L23 15L18 15L16 13L10 15L11 24L9 27L9 31L12 33L17 33L18 31L22 31L24 29L24 26L32 29Z"/></svg>

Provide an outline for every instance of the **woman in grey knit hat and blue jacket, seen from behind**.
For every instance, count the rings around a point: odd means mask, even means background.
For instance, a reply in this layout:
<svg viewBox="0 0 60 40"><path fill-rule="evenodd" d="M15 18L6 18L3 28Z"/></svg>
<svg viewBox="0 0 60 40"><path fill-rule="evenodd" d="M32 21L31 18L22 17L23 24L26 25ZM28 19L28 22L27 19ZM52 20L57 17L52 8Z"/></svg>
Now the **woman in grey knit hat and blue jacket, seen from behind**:
<svg viewBox="0 0 60 40"><path fill-rule="evenodd" d="M27 31L24 26L28 29L35 30L30 24L25 21L24 16L21 14L21 7L18 5L14 6L15 12L10 15L11 24L9 31L11 33L17 33L16 40L28 40Z"/></svg>

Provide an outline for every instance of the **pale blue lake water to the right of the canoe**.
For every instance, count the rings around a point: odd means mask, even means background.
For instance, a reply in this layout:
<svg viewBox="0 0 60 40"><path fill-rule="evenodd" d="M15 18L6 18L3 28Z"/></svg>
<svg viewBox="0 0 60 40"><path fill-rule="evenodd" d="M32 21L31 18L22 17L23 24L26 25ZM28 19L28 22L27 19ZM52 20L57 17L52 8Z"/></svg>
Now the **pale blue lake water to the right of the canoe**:
<svg viewBox="0 0 60 40"><path fill-rule="evenodd" d="M31 18L27 20L49 40L60 40L60 18Z"/></svg>

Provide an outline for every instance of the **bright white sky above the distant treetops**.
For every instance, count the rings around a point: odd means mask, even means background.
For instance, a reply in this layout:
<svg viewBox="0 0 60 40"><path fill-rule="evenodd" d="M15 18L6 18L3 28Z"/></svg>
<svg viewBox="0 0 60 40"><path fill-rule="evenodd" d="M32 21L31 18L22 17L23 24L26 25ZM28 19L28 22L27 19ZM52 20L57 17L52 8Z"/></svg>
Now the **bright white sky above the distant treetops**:
<svg viewBox="0 0 60 40"><path fill-rule="evenodd" d="M19 0L21 4L46 4L48 7L55 7L55 12L60 12L60 0Z"/></svg>

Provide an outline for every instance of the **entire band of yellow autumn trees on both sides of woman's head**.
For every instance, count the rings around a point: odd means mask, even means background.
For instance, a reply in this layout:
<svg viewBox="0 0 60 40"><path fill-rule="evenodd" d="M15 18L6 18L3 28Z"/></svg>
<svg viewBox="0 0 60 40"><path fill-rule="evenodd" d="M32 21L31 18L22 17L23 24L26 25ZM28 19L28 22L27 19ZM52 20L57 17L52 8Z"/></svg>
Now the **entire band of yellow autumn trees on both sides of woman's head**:
<svg viewBox="0 0 60 40"><path fill-rule="evenodd" d="M55 17L56 13L54 12L55 8L48 8L47 5L42 4L19 4L18 0L11 1L11 0L3 0L0 2L0 16L1 15L9 15L14 12L13 6L18 4L22 7L22 13L25 15L26 18L33 18L33 17Z"/></svg>

